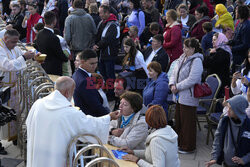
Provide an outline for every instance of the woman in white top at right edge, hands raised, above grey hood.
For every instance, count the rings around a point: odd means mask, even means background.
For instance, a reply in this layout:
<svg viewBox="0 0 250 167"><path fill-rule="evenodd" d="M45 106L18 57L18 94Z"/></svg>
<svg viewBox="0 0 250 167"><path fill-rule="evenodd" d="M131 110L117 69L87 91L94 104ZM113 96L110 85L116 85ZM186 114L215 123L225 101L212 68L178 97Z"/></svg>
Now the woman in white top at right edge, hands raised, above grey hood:
<svg viewBox="0 0 250 167"><path fill-rule="evenodd" d="M244 61L245 67L241 71L233 74L231 90L234 95L242 94L247 97L248 83L250 83L250 49L248 49L248 57Z"/></svg>

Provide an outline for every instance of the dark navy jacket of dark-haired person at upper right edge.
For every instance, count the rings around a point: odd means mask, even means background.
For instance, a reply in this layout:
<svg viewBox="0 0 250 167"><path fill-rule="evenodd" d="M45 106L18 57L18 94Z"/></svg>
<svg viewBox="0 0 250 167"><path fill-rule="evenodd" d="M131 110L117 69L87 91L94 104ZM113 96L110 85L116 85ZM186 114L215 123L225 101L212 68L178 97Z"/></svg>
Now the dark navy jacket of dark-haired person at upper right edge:
<svg viewBox="0 0 250 167"><path fill-rule="evenodd" d="M238 65L242 64L242 62L247 58L247 52L250 48L249 20L245 20L236 27L232 42L233 62Z"/></svg>

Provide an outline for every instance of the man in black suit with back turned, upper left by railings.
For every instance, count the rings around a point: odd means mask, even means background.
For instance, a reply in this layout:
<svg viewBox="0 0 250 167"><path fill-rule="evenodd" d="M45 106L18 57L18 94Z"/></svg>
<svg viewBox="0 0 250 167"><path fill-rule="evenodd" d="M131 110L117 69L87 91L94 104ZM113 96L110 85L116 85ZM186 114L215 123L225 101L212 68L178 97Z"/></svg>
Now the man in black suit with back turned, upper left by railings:
<svg viewBox="0 0 250 167"><path fill-rule="evenodd" d="M47 54L42 67L48 74L62 75L62 63L68 58L64 55L59 38L54 34L53 28L56 25L56 15L52 11L44 14L45 27L37 34L35 41L37 49Z"/></svg>

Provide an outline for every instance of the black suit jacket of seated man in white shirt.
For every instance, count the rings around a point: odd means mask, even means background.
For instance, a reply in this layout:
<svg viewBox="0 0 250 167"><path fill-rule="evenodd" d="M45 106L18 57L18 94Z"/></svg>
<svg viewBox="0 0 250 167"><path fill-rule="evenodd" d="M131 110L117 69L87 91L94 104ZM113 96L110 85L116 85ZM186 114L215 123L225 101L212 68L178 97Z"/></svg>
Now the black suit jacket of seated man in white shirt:
<svg viewBox="0 0 250 167"><path fill-rule="evenodd" d="M144 60L146 61L148 59L148 57L150 56L151 52L153 51L152 47L149 46L144 52L143 52L143 56L144 56ZM152 61L157 61L158 63L161 64L161 68L162 71L166 71L167 67L168 67L168 54L167 52L163 49L163 47L158 50L156 56L153 58Z"/></svg>

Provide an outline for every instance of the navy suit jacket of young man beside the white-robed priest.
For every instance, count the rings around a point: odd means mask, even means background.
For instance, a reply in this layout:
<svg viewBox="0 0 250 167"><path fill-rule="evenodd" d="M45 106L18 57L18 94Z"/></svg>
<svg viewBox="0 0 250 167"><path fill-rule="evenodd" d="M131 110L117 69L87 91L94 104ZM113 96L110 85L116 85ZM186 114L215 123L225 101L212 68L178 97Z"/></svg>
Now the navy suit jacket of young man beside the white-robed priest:
<svg viewBox="0 0 250 167"><path fill-rule="evenodd" d="M78 69L72 76L76 83L74 101L77 107L86 114L94 117L103 116L109 111L103 107L97 89L91 84L88 74Z"/></svg>

